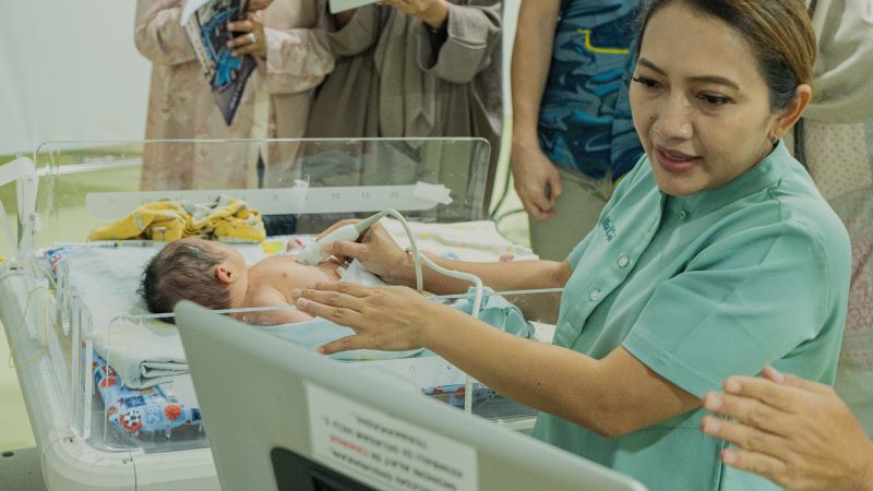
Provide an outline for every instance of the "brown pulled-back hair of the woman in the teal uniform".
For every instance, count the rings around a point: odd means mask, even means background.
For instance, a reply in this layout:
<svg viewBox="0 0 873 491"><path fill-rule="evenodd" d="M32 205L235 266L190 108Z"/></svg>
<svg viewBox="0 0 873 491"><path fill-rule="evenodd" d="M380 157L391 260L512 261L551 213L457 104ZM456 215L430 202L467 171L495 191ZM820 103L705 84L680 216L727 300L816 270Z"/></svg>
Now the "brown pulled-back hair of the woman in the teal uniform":
<svg viewBox="0 0 873 491"><path fill-rule="evenodd" d="M800 84L810 84L815 64L815 32L802 0L649 0L639 12L636 52L651 16L682 2L737 29L749 43L770 93L770 109L784 109Z"/></svg>

